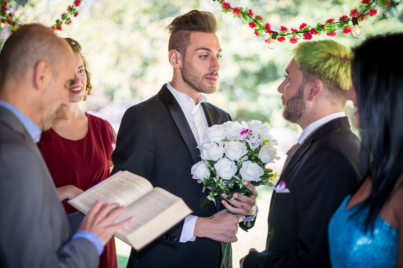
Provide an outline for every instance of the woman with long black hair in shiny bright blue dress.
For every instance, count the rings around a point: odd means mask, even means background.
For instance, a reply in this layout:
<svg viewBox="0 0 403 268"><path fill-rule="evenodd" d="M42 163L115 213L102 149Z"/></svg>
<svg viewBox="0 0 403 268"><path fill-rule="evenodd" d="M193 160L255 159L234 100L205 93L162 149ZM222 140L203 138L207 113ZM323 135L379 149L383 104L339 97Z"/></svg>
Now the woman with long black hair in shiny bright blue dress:
<svg viewBox="0 0 403 268"><path fill-rule="evenodd" d="M359 189L330 220L333 267L403 267L403 34L374 36L352 61Z"/></svg>

